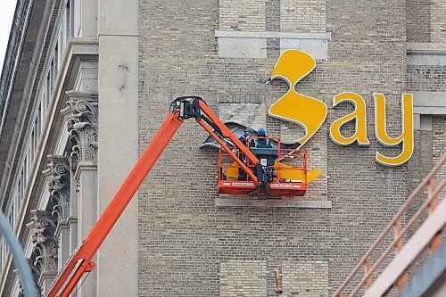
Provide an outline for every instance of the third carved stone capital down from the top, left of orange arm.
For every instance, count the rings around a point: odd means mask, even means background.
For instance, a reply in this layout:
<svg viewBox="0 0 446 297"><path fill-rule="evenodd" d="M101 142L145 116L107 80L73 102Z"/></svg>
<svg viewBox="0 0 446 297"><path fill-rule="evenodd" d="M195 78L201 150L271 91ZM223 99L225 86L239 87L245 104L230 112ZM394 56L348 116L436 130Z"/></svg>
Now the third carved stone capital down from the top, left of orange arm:
<svg viewBox="0 0 446 297"><path fill-rule="evenodd" d="M57 242L54 239L56 219L46 210L31 210L31 232L33 265L43 273L57 273Z"/></svg>

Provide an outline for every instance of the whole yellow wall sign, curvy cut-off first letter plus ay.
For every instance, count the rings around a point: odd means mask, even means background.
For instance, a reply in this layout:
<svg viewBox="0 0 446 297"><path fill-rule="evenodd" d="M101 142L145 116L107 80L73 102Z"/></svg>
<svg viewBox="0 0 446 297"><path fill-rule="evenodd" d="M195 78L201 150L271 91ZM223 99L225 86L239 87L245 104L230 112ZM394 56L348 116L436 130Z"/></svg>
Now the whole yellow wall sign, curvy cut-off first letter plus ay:
<svg viewBox="0 0 446 297"><path fill-rule="evenodd" d="M280 78L288 83L289 89L276 103L269 108L271 117L293 122L301 126L305 135L297 139L302 146L313 136L326 120L326 104L301 95L295 91L295 85L305 78L316 62L310 54L298 50L287 50L277 60L276 67L271 73L271 79ZM385 146L401 144L401 153L395 157L384 156L376 152L376 161L383 165L398 166L408 161L414 150L413 136L413 99L411 94L403 94L401 103L401 135L391 137L387 134L385 118L385 97L383 94L373 94L375 100L375 134L376 140ZM335 95L333 106L341 103L353 103L355 110L343 118L335 120L330 126L330 137L335 144L349 145L356 142L359 145L369 145L367 136L366 102L351 92ZM343 136L341 128L348 122L355 121L355 130L352 136Z"/></svg>

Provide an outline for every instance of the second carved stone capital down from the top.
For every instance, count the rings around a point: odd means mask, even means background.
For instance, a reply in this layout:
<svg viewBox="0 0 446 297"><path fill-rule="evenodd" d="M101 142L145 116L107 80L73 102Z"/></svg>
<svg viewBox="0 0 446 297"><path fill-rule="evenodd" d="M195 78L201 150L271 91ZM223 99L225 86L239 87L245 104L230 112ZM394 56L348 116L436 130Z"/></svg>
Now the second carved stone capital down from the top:
<svg viewBox="0 0 446 297"><path fill-rule="evenodd" d="M48 155L47 169L43 171L48 177L50 199L54 202L52 215L57 222L65 222L70 216L70 163L59 155Z"/></svg>

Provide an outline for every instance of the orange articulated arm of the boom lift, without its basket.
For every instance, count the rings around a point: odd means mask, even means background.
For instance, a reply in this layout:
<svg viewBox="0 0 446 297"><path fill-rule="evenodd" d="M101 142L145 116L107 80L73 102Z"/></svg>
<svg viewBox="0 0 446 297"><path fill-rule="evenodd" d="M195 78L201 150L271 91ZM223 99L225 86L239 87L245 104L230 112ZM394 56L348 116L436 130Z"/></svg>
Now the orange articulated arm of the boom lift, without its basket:
<svg viewBox="0 0 446 297"><path fill-rule="evenodd" d="M136 162L134 169L132 169L122 186L120 186L120 190L108 207L103 211L101 218L97 221L90 234L87 235L84 242L74 252L71 259L67 261L59 276L54 279L54 283L46 296L69 296L80 278L86 272L95 268L95 262L92 260L95 253L120 218L122 212L126 209L128 202L130 202L139 186L141 186L161 153L169 144L170 139L178 131L184 120L190 118L194 118L202 128L215 138L222 150L229 154L244 169L255 186L262 184L264 179L262 174L264 173L261 170L258 158L219 120L219 117L211 111L202 98L197 96L177 98L170 104L169 116L153 137L153 141L148 145L139 161ZM234 144L239 152L243 153L252 164L255 164L254 169L246 166L246 162L240 160L237 154L232 152L226 144L226 139Z"/></svg>

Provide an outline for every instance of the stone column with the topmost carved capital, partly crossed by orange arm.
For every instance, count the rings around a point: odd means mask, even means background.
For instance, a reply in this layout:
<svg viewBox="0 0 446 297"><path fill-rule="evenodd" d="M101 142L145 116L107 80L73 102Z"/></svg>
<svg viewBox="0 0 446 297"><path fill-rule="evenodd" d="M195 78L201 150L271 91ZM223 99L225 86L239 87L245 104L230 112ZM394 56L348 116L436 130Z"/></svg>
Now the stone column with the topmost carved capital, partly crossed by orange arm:
<svg viewBox="0 0 446 297"><path fill-rule="evenodd" d="M97 95L79 91L69 91L67 95L67 107L61 112L73 145L70 164L75 171L75 189L71 194L76 195L78 243L82 243L97 221ZM95 269L80 287L79 296L95 296L96 283Z"/></svg>

